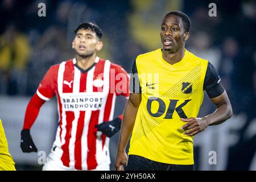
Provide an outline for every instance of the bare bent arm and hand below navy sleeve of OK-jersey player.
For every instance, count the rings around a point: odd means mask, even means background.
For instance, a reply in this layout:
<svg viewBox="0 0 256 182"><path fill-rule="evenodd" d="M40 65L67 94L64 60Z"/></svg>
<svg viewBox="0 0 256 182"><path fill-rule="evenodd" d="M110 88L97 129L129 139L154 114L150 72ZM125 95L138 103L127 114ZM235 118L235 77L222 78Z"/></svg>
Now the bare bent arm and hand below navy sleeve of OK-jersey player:
<svg viewBox="0 0 256 182"><path fill-rule="evenodd" d="M208 126L220 125L222 122L232 117L232 106L226 91L218 97L211 98L211 100L213 104L217 106L214 113L203 118L180 118L181 121L187 122L181 127L181 130L184 130L185 135L196 135L197 133L204 131Z"/></svg>

